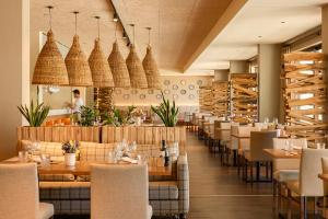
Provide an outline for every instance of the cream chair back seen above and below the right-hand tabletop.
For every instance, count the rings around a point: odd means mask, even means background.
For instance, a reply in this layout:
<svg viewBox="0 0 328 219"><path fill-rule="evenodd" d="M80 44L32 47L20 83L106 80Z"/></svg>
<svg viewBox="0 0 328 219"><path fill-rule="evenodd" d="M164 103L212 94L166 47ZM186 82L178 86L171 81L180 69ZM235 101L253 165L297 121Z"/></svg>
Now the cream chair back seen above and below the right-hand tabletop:
<svg viewBox="0 0 328 219"><path fill-rule="evenodd" d="M294 147L307 148L306 138L273 138L274 149L285 149L286 141L292 142ZM273 171L278 170L300 170L300 159L274 159Z"/></svg>

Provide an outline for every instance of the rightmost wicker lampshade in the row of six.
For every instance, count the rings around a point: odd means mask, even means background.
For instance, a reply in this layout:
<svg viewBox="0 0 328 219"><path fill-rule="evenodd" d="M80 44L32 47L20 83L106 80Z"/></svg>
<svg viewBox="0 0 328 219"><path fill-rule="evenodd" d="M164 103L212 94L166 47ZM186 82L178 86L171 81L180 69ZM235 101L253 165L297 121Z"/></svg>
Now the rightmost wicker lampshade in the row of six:
<svg viewBox="0 0 328 219"><path fill-rule="evenodd" d="M161 76L157 68L157 64L152 54L152 48L150 46L147 47L147 54L142 61L142 66L145 72L148 88L161 90L161 82L160 82Z"/></svg>

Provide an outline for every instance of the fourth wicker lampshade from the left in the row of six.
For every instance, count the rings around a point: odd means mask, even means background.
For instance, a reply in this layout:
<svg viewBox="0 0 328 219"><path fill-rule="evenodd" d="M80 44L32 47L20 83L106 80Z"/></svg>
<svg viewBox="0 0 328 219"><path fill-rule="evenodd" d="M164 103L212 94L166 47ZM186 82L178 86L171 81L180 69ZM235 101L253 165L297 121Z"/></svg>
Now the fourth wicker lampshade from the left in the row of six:
<svg viewBox="0 0 328 219"><path fill-rule="evenodd" d="M116 88L130 88L130 78L127 64L121 56L117 42L113 44L113 50L108 57L108 64L113 73L114 84Z"/></svg>

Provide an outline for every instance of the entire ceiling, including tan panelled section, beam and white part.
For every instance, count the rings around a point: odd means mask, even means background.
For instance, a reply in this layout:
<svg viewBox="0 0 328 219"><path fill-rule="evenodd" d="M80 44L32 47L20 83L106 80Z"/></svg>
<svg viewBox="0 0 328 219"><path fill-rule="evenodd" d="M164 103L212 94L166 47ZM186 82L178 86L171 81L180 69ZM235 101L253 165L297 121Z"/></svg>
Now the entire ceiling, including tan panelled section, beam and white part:
<svg viewBox="0 0 328 219"><path fill-rule="evenodd" d="M151 45L161 72L212 72L227 69L229 60L243 60L257 54L257 44L290 39L320 24L320 4L328 0L113 0L125 28L133 41L130 23L136 24L140 58ZM31 0L31 33L48 30L46 5L54 5L52 30L70 46L74 34L72 11L80 11L78 34L86 54L97 36L106 56L115 41L110 0ZM282 23L283 22L283 23ZM126 57L127 42L118 30L118 43ZM259 37L261 36L261 37Z"/></svg>

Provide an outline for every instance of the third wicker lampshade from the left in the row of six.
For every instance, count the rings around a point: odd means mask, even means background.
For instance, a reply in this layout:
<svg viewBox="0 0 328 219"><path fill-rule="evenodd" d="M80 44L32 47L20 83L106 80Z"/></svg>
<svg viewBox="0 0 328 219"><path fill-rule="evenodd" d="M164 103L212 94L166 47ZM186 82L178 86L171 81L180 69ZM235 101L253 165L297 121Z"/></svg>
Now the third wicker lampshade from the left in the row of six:
<svg viewBox="0 0 328 219"><path fill-rule="evenodd" d="M101 49L99 38L95 39L94 48L89 57L89 66L92 73L93 87L112 88L114 87L113 76L109 65Z"/></svg>

